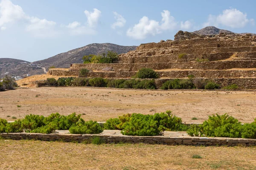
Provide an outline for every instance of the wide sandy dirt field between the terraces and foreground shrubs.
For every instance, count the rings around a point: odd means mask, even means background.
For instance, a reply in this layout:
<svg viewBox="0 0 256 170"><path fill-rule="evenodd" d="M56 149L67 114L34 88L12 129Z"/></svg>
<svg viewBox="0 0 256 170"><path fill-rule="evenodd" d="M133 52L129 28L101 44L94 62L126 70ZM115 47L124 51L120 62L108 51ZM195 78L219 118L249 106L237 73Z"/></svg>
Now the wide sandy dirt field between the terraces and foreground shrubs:
<svg viewBox="0 0 256 170"><path fill-rule="evenodd" d="M85 120L105 121L125 113L171 110L186 123L228 113L243 123L256 118L256 91L147 91L88 87L19 88L0 92L0 118L76 112ZM17 106L20 107L17 107ZM7 117L10 116L10 117ZM192 120L196 117L198 120Z"/></svg>

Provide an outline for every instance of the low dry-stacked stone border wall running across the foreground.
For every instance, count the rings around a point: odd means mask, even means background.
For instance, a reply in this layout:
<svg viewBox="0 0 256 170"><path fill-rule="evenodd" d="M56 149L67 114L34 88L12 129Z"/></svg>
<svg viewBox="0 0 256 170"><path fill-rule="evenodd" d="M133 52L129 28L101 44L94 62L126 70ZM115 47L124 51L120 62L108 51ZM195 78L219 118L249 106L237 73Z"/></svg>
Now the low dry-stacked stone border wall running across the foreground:
<svg viewBox="0 0 256 170"><path fill-rule="evenodd" d="M94 136L105 139L106 143L145 143L167 145L194 145L194 146L255 146L256 139L241 138L207 138L207 137L166 137L166 136L111 136L111 135L88 135L88 134L41 134L41 133L1 133L4 139L34 139L42 141L65 141L65 142L88 142Z"/></svg>

